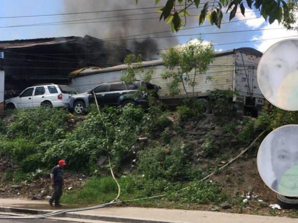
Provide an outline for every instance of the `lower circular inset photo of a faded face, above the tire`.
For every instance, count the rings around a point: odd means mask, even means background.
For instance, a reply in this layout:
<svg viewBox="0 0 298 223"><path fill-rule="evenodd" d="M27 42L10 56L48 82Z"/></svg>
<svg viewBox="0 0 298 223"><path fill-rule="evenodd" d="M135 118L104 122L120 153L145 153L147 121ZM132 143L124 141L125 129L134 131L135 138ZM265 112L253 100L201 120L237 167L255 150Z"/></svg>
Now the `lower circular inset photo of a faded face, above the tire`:
<svg viewBox="0 0 298 223"><path fill-rule="evenodd" d="M281 195L298 197L298 125L270 132L259 148L257 165L268 187Z"/></svg>

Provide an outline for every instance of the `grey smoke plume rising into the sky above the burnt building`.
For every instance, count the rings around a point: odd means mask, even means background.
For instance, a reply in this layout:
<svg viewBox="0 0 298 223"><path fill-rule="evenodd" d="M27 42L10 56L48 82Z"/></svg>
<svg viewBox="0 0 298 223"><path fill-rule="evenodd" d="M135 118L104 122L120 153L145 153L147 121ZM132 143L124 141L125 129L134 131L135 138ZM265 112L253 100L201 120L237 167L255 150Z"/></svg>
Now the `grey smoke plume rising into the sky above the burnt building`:
<svg viewBox="0 0 298 223"><path fill-rule="evenodd" d="M164 5L165 0L161 1L160 5ZM140 0L136 5L135 0L63 0L64 11L67 12L83 12L83 11L106 11L106 10L119 10L127 8L145 8L153 7L154 0ZM165 22L159 22L160 13L156 12L157 8L151 9L138 9L138 10L125 10L125 11L111 11L111 12L99 12L92 14L74 14L65 15L61 20L70 19L86 19L86 18L101 18L98 20L91 21L111 21L118 20L114 22L102 22L102 23L85 23L85 24L75 24L75 25L65 25L65 29L71 29L72 33L78 36L90 35L99 39L108 39L105 42L105 47L111 49L111 51L117 51L117 48L112 47L114 44L120 45L118 51L121 49L129 49L133 53L142 54L143 59L149 60L157 57L157 50L168 48L169 46L174 46L178 43L176 38L158 38L152 39L149 37L154 37L154 34L149 34L152 32L166 31L170 29L169 24ZM149 13L150 14L146 14ZM138 14L131 15L129 14ZM120 15L127 15L121 17L114 17ZM107 18L110 17L110 18ZM111 18L112 17L112 18ZM142 18L142 19L141 19ZM143 19L147 18L147 19ZM152 19L154 18L154 19ZM135 19L135 20L128 20ZM144 36L130 37L131 35L137 34L147 34ZM155 36L160 35L171 35L171 32L155 34ZM125 40L114 41L122 38ZM136 38L146 38L137 39ZM113 40L113 41L111 41Z"/></svg>

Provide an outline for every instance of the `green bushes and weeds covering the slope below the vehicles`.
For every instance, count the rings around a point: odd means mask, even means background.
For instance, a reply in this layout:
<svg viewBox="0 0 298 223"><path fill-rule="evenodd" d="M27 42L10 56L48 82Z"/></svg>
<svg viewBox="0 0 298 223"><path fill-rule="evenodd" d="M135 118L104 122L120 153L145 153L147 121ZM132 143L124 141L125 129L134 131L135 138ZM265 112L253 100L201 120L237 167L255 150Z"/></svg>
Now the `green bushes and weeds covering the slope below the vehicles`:
<svg viewBox="0 0 298 223"><path fill-rule="evenodd" d="M223 97L217 105L225 106L224 100L227 103L231 94L220 94L229 96ZM134 204L154 207L159 203L162 207L174 207L177 204L232 203L234 198L224 192L221 184L200 179L214 171L217 176L222 174L217 171L218 164L235 153L229 146L245 147L264 130L269 132L284 124L298 124L297 112L264 107L258 118L251 118L235 116L227 112L232 111L231 107L225 107L221 110L225 118L215 114L213 122L217 123L211 126L206 120L212 116L203 115L199 101L194 102L198 108L191 110L194 113L181 112L183 107L190 107L187 103L190 102L183 102L174 112L167 111L161 104L149 110L133 105L104 107L101 108L102 118L95 107L86 116L44 108L5 114L0 118L0 155L12 159L16 168L6 169L2 180L30 182L48 173L59 159L65 159L68 171L87 174L90 180L77 191L67 191L63 202L104 203L115 198L117 186L109 176L108 163L98 167L96 162L100 156L109 155L121 184L121 200L165 194L161 200ZM214 106L214 102L209 102L208 106ZM187 130L193 128L200 134L200 123L210 130L205 130L203 138L194 134L191 136L194 142L190 142ZM196 127L199 130L195 130ZM138 142L139 137L148 137L149 142ZM218 137L220 144L217 144ZM228 145L226 151L224 143ZM204 159L211 162L202 165ZM128 168L129 171L125 171ZM229 183L231 179L232 176L223 182ZM241 180L244 179L236 181L241 183Z"/></svg>

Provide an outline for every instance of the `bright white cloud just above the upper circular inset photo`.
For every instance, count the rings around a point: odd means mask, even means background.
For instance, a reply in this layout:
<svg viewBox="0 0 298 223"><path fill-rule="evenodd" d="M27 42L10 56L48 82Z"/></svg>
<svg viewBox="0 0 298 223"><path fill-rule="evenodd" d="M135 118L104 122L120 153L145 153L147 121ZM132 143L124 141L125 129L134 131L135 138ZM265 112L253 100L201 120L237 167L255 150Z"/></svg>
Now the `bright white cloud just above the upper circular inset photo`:
<svg viewBox="0 0 298 223"><path fill-rule="evenodd" d="M298 15L298 13L297 13ZM295 26L297 26L296 24ZM272 28L283 28L284 26L282 24L278 24L277 21L274 23L267 24L264 29L272 29ZM271 38L278 38L273 40L266 40L262 42L257 42L255 44L255 48L261 52L265 52L271 45L275 44L276 42L279 42L283 39L289 38L289 36L298 36L298 32L295 30L287 30L287 29L273 29L273 30L263 30L261 32L261 35L254 36L252 40L260 40L260 39L271 39ZM293 38L293 37L292 37Z"/></svg>

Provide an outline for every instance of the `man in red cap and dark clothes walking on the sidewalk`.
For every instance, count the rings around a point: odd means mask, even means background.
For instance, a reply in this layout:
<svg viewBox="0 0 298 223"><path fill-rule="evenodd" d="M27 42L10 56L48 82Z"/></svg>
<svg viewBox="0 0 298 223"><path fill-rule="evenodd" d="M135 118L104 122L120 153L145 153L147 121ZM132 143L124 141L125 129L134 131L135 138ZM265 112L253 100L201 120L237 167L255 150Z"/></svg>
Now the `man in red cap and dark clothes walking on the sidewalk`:
<svg viewBox="0 0 298 223"><path fill-rule="evenodd" d="M51 171L51 183L54 188L54 193L52 194L52 197L49 200L49 204L53 206L53 202L55 201L55 207L62 207L60 204L60 197L63 193L63 186L64 186L64 166L66 163L64 160L60 160L59 164L55 167L53 167Z"/></svg>

